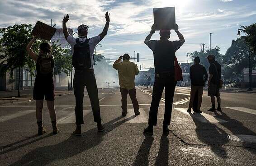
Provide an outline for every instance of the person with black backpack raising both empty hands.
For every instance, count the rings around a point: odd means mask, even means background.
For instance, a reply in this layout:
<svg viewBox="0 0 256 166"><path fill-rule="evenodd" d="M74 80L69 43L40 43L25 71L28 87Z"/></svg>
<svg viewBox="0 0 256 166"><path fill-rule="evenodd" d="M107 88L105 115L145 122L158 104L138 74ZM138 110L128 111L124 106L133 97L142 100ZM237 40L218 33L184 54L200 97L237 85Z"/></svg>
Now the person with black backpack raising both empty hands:
<svg viewBox="0 0 256 166"><path fill-rule="evenodd" d="M77 27L78 38L70 36L66 23L69 20L69 15L66 14L62 20L63 33L66 41L70 44L72 49L72 66L75 68L74 75L74 94L76 97L76 130L74 135L81 135L81 124L84 124L83 116L83 98L84 89L86 87L90 103L94 115L94 121L97 123L98 132L104 131L104 126L101 124L100 117L100 102L98 97L98 88L95 79L93 62L93 52L95 46L107 35L109 29L109 13L105 14L106 24L103 31L95 37L88 38L89 27L81 24ZM84 55L84 56L81 56ZM82 60L83 59L83 60ZM81 63L84 62L84 63Z"/></svg>

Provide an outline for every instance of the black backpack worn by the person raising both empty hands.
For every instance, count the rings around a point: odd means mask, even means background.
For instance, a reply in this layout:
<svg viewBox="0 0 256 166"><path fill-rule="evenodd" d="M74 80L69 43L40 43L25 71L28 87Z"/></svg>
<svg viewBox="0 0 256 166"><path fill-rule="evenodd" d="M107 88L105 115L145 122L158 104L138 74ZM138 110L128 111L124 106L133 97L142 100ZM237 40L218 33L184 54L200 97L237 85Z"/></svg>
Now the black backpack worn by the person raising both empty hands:
<svg viewBox="0 0 256 166"><path fill-rule="evenodd" d="M72 56L72 66L77 70L90 69L90 47L89 39L85 39L85 42L80 42L76 39L76 45L74 46L74 53Z"/></svg>

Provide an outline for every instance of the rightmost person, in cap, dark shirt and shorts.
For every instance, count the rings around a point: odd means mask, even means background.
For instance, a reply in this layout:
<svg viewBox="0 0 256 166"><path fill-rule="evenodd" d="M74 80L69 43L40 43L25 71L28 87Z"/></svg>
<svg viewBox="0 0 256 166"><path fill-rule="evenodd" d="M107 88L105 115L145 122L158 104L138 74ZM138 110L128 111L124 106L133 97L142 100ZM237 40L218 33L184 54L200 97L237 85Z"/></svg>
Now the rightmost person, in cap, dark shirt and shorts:
<svg viewBox="0 0 256 166"><path fill-rule="evenodd" d="M212 107L208 111L216 111L215 109L215 96L218 102L218 111L221 111L220 107L220 94L219 94L219 80L221 79L221 65L215 60L214 55L209 55L207 57L210 67L209 67L209 80L208 80L208 96L211 97Z"/></svg>

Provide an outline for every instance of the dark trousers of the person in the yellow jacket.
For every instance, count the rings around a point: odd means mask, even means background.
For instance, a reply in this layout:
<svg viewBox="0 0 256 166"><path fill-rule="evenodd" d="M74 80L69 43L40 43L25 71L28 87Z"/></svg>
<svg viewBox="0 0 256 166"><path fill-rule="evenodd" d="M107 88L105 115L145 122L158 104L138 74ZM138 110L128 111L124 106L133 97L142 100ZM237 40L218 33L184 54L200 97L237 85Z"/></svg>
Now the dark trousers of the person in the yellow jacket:
<svg viewBox="0 0 256 166"><path fill-rule="evenodd" d="M129 96L133 103L133 109L134 112L139 110L139 104L136 98L136 88L133 88L131 90L127 90L124 88L120 88L121 96L122 96L122 110L123 112L127 112L127 94L129 93Z"/></svg>

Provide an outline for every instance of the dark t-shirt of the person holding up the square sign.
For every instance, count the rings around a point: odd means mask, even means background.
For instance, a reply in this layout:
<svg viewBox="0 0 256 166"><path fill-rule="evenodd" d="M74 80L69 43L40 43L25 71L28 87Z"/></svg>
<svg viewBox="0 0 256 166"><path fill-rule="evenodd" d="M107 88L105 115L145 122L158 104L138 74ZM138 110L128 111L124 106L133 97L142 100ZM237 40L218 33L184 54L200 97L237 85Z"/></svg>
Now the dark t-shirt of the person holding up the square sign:
<svg viewBox="0 0 256 166"><path fill-rule="evenodd" d="M147 46L153 51L156 73L174 74L175 52L180 48L180 41L151 40Z"/></svg>

